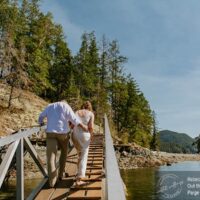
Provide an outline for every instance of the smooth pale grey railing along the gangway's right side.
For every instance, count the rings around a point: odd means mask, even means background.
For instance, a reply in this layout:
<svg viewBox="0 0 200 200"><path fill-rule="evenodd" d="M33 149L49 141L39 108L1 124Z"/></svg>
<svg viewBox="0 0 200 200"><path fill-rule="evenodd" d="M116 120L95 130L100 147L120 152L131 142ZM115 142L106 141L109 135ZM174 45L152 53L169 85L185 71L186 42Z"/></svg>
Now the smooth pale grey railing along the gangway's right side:
<svg viewBox="0 0 200 200"><path fill-rule="evenodd" d="M106 198L107 200L125 200L125 190L121 178L113 141L110 134L108 118L104 116L105 133L105 166L106 166Z"/></svg>

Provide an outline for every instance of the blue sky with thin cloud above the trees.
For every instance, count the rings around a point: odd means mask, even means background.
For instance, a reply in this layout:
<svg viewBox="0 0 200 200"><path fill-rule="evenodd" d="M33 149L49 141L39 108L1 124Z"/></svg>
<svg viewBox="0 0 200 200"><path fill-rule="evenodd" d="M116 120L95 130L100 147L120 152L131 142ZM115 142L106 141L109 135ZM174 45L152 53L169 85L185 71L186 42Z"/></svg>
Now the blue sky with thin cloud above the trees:
<svg viewBox="0 0 200 200"><path fill-rule="evenodd" d="M118 40L160 130L200 134L199 0L43 0L75 54L84 32Z"/></svg>

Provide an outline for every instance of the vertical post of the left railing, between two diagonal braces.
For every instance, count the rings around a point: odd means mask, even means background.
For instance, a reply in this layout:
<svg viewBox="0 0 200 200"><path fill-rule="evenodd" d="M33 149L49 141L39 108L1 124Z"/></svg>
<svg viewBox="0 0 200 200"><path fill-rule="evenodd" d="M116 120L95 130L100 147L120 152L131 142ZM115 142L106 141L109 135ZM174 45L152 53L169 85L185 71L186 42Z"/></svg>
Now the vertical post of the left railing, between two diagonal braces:
<svg viewBox="0 0 200 200"><path fill-rule="evenodd" d="M21 138L16 151L17 200L24 200L24 139Z"/></svg>

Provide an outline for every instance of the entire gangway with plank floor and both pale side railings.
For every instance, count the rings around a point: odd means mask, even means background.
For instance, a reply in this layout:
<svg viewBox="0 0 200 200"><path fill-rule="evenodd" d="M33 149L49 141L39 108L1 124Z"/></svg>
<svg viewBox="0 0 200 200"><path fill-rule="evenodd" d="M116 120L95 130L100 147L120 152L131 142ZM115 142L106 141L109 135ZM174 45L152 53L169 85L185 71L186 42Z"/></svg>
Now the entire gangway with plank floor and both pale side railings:
<svg viewBox="0 0 200 200"><path fill-rule="evenodd" d="M66 169L67 177L58 181L54 188L49 188L47 181L47 170L34 146L30 142L30 136L44 131L44 127L34 127L20 130L18 133L0 139L0 147L8 146L3 160L0 164L0 187L9 170L9 166L16 153L17 171L17 193L16 199L22 200L24 197L24 148L30 153L31 157L40 169L43 180L33 189L26 199L36 200L125 200L123 181L121 179L117 160L114 153L108 120L104 117L104 131L95 133L94 139L89 147L87 161L86 178L84 186L73 186L76 168L77 152L72 148L67 157Z"/></svg>

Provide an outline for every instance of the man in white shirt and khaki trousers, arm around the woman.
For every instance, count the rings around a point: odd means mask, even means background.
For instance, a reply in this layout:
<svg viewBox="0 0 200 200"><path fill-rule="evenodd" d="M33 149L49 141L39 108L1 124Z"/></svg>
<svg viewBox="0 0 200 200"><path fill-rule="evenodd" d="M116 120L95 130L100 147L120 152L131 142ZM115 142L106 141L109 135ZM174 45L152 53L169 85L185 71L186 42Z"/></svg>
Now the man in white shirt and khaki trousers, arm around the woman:
<svg viewBox="0 0 200 200"><path fill-rule="evenodd" d="M59 179L62 179L65 170L67 146L69 142L68 133L70 131L68 121L76 126L80 126L85 131L88 130L88 127L81 123L66 101L49 104L39 116L38 122L40 125L43 124L44 118L47 118L46 133L49 186L54 187L57 178L59 177ZM58 145L61 149L59 173L56 167Z"/></svg>

